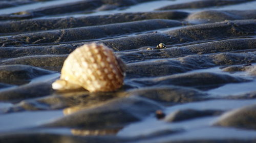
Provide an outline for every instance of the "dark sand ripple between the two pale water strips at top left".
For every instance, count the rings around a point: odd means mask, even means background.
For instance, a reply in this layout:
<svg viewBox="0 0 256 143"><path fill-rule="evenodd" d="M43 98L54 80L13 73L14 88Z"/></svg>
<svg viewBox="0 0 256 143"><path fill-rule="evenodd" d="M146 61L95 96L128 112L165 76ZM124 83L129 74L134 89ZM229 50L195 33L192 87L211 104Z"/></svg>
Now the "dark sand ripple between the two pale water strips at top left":
<svg viewBox="0 0 256 143"><path fill-rule="evenodd" d="M88 1L79 1L71 2L69 4L55 5L50 7L43 7L28 11L22 11L12 14L3 14L0 15L0 20L8 19L29 19L35 17L41 17L45 15L57 15L65 13L74 13L74 12L93 12L97 8L102 7L103 5L111 5L112 9L119 7L127 7L131 5L136 5L143 2L148 2L153 0L117 0L117 1L108 1L108 0L88 0Z"/></svg>

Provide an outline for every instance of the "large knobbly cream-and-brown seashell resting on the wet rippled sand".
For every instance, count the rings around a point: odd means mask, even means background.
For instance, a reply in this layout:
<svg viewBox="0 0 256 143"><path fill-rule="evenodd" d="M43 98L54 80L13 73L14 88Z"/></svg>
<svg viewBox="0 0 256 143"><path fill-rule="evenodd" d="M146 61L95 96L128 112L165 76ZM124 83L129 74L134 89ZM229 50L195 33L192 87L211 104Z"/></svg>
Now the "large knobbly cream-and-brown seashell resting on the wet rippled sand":
<svg viewBox="0 0 256 143"><path fill-rule="evenodd" d="M122 87L125 65L112 49L103 44L84 44L69 54L55 90L84 88L90 92L115 91Z"/></svg>

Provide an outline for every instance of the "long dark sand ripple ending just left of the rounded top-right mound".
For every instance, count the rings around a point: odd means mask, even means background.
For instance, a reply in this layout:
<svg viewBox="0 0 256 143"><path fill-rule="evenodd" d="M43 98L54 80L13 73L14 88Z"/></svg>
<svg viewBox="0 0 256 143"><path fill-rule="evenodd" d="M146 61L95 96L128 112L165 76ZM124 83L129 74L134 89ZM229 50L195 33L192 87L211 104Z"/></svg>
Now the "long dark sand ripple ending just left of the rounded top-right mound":
<svg viewBox="0 0 256 143"><path fill-rule="evenodd" d="M0 23L0 33L32 32L43 30L54 30L63 28L74 28L82 26L103 25L139 21L146 19L183 19L188 15L180 11L159 11L143 13L120 13L87 17L67 17L54 19L29 19L22 21L11 21ZM33 25L33 26L30 26ZM0 35L1 35L0 34Z"/></svg>

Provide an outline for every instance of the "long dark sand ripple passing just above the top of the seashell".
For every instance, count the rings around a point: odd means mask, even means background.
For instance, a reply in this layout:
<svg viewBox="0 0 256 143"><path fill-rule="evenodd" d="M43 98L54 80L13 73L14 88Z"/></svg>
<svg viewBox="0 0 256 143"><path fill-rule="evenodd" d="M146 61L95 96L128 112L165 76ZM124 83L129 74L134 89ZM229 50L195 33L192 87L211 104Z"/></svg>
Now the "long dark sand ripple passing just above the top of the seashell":
<svg viewBox="0 0 256 143"><path fill-rule="evenodd" d="M70 41L115 37L119 35L143 31L152 31L161 28L169 28L181 25L182 23L180 21L153 19L121 24L118 23L20 34L11 37L1 37L0 43L2 43L2 46L20 46L40 43L62 43Z"/></svg>

